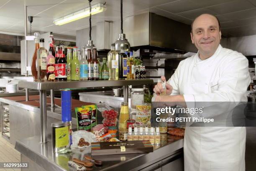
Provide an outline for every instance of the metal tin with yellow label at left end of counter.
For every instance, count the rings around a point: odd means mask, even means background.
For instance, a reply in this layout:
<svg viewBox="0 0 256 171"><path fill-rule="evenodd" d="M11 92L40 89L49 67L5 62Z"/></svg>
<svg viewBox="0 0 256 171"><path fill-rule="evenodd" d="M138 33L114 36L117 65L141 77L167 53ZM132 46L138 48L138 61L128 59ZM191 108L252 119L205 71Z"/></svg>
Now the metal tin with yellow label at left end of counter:
<svg viewBox="0 0 256 171"><path fill-rule="evenodd" d="M59 153L69 148L69 126L70 123L52 123L52 151Z"/></svg>

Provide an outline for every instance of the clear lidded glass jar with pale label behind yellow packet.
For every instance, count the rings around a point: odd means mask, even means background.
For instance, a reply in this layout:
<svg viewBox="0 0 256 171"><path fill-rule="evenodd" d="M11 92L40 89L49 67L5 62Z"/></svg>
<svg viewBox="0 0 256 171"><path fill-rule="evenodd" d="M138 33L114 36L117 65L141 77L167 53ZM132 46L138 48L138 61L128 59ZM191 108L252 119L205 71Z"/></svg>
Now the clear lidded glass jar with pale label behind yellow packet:
<svg viewBox="0 0 256 171"><path fill-rule="evenodd" d="M136 105L144 104L143 88L133 88L131 91L131 108L136 109Z"/></svg>

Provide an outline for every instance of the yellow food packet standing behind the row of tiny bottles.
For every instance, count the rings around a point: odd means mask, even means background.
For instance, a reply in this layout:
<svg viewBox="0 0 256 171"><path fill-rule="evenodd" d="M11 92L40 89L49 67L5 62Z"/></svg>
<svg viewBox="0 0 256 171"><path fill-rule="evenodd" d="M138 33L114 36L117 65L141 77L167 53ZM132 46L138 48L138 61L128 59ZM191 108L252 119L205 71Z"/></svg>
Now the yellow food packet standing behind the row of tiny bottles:
<svg viewBox="0 0 256 171"><path fill-rule="evenodd" d="M137 105L136 110L136 123L150 124L151 104Z"/></svg>

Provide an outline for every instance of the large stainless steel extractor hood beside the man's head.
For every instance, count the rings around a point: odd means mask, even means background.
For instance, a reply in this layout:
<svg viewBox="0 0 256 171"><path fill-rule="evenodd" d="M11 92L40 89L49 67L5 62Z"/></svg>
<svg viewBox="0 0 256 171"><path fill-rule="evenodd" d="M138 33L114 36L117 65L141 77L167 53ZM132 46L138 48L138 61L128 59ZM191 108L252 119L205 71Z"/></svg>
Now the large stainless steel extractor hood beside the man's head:
<svg viewBox="0 0 256 171"><path fill-rule="evenodd" d="M197 52L187 24L154 13L143 13L125 18L124 26L131 47L155 46Z"/></svg>

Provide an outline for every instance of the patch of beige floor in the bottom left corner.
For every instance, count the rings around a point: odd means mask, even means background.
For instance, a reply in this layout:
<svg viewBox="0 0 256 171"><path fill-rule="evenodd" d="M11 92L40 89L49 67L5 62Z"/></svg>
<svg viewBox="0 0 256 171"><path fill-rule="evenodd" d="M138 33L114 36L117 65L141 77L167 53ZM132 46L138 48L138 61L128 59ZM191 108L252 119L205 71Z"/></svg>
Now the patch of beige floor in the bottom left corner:
<svg viewBox="0 0 256 171"><path fill-rule="evenodd" d="M0 162L20 162L20 153L0 134ZM20 168L0 168L0 171L20 171Z"/></svg>

